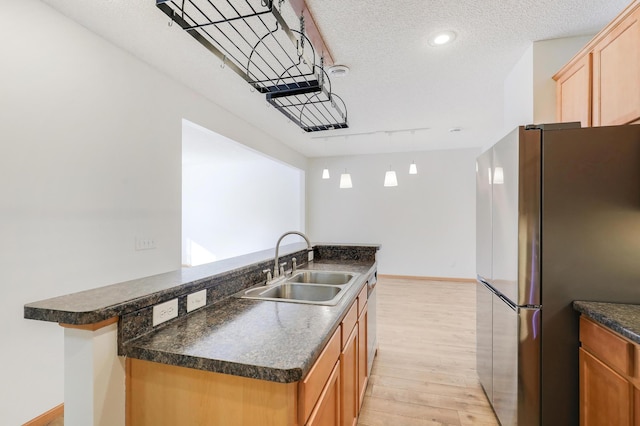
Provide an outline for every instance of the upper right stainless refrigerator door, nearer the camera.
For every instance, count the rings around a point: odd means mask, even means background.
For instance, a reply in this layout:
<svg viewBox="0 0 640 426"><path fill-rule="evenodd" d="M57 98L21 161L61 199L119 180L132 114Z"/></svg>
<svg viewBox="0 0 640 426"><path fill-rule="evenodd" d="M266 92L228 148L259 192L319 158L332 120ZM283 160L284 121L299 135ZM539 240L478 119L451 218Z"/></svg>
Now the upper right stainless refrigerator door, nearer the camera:
<svg viewBox="0 0 640 426"><path fill-rule="evenodd" d="M541 303L540 138L520 127L493 147L490 284L518 306Z"/></svg>

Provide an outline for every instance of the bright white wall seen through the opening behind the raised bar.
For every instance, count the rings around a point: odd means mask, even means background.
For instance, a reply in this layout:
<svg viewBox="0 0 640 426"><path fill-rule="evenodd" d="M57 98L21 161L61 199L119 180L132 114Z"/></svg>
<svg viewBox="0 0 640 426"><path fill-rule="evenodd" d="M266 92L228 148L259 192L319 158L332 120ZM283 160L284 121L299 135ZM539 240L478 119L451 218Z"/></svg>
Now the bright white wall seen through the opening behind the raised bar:
<svg viewBox="0 0 640 426"><path fill-rule="evenodd" d="M304 171L187 121L182 141L182 263L272 248L304 232Z"/></svg>

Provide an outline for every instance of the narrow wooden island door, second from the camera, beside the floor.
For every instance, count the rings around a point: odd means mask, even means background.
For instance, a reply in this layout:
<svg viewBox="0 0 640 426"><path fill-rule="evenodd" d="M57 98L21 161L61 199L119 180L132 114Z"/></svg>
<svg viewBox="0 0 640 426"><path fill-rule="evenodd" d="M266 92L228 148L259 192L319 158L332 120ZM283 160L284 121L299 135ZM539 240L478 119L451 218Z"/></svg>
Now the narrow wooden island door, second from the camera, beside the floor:
<svg viewBox="0 0 640 426"><path fill-rule="evenodd" d="M358 420L358 327L353 327L345 342L340 365L342 424L353 426Z"/></svg>

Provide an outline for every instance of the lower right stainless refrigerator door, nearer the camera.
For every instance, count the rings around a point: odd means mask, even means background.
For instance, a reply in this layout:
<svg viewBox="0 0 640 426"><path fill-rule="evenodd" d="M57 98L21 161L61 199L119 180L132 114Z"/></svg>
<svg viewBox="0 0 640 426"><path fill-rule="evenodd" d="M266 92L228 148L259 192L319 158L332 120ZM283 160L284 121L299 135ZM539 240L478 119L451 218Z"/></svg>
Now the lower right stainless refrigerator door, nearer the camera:
<svg viewBox="0 0 640 426"><path fill-rule="evenodd" d="M493 409L502 426L540 425L540 309L493 296Z"/></svg>

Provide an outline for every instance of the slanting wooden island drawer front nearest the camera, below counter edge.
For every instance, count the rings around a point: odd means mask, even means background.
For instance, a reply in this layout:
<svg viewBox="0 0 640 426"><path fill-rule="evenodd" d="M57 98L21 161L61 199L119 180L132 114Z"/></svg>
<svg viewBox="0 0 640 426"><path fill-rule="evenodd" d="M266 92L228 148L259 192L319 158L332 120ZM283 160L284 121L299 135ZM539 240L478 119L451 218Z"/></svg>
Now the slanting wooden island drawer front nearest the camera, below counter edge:
<svg viewBox="0 0 640 426"><path fill-rule="evenodd" d="M324 389L336 362L338 362L340 358L340 352L340 327L338 327L318 357L316 363L311 367L309 374L300 382L300 424L305 424L311 415L311 411L316 405L322 389Z"/></svg>

